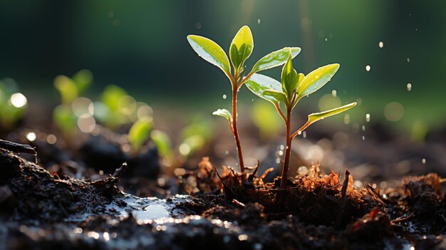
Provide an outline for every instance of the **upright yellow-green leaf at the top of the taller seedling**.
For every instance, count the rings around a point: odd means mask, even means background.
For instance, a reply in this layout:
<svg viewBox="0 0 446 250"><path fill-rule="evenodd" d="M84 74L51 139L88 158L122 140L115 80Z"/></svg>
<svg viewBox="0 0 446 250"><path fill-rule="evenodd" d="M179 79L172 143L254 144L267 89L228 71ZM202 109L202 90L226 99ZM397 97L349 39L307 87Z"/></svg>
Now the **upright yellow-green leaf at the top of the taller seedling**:
<svg viewBox="0 0 446 250"><path fill-rule="evenodd" d="M234 36L229 47L229 57L231 58L232 66L237 70L240 66L243 66L244 62L251 56L253 48L254 40L252 39L251 30L248 26L243 26Z"/></svg>

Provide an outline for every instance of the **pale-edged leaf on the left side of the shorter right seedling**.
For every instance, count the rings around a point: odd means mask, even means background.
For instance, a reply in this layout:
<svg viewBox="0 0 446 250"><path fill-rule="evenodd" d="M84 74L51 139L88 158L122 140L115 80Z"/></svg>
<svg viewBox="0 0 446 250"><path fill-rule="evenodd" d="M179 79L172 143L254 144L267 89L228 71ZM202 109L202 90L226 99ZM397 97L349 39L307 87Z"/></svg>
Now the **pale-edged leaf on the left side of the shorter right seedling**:
<svg viewBox="0 0 446 250"><path fill-rule="evenodd" d="M277 103L279 101L274 96L264 94L267 90L275 90L279 93L282 91L281 83L273 78L270 78L269 76L254 74L247 80L245 85L247 85L247 88L251 90L254 95L259 96L259 98L263 98L271 103ZM281 97L279 98L281 99Z"/></svg>

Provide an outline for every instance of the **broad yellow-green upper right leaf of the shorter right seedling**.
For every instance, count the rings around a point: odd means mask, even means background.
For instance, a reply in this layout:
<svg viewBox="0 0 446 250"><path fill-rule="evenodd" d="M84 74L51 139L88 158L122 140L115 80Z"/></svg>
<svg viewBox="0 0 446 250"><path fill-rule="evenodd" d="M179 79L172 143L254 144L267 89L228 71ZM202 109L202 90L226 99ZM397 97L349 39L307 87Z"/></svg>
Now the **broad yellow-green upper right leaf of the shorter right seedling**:
<svg viewBox="0 0 446 250"><path fill-rule="evenodd" d="M311 73L306 75L304 80L297 86L297 93L299 94L298 99L314 93L319 88L322 88L323 85L326 85L336 71L338 71L338 68L339 64L334 63L311 71Z"/></svg>

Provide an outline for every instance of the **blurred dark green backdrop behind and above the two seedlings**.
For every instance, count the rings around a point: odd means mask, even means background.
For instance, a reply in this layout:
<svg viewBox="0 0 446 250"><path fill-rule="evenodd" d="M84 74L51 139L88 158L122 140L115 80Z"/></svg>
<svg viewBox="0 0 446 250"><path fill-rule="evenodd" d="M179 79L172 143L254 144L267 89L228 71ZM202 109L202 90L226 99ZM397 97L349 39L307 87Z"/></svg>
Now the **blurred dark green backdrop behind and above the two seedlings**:
<svg viewBox="0 0 446 250"><path fill-rule="evenodd" d="M229 81L186 36L207 36L227 51L249 25L248 67L284 46L302 48L294 60L300 72L341 63L331 83L304 100L309 110L336 90L342 103L361 102L351 123L370 114L398 129L437 129L446 123L445 9L446 1L1 1L0 78L57 103L56 75L88 68L93 93L116 84L149 105L211 113L229 107L222 98ZM266 74L278 78L279 69ZM241 105L251 100L242 91Z"/></svg>

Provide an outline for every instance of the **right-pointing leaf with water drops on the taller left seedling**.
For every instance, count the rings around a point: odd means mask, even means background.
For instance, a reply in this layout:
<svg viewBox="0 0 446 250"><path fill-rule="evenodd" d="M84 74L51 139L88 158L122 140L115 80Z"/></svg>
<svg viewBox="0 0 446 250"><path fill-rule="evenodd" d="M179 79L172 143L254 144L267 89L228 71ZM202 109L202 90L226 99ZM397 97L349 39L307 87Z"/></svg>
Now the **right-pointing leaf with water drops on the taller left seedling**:
<svg viewBox="0 0 446 250"><path fill-rule="evenodd" d="M254 64L254 67L252 67L251 69L251 73L264 71L269 68L281 66L282 64L286 63L286 61L288 60L290 49L292 58L295 58L301 52L301 48L299 47L286 47L280 49L279 51L271 52L268 55L262 57L259 61L256 62L256 64Z"/></svg>

